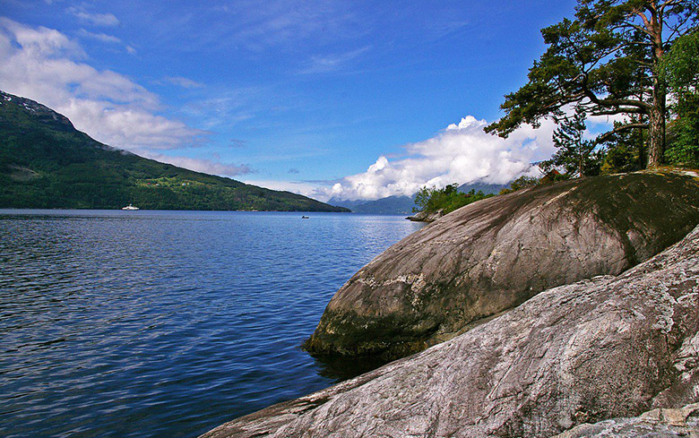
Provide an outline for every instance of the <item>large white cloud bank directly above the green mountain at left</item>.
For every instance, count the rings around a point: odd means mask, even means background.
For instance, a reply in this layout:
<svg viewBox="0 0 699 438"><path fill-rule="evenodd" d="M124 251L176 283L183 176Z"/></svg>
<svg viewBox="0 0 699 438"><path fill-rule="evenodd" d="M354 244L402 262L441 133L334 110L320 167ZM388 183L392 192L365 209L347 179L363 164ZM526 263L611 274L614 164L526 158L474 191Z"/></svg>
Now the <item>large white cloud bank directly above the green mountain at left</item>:
<svg viewBox="0 0 699 438"><path fill-rule="evenodd" d="M0 18L0 84L55 109L99 142L126 150L197 145L203 131L159 116L158 97L126 76L80 62L82 47L57 30Z"/></svg>

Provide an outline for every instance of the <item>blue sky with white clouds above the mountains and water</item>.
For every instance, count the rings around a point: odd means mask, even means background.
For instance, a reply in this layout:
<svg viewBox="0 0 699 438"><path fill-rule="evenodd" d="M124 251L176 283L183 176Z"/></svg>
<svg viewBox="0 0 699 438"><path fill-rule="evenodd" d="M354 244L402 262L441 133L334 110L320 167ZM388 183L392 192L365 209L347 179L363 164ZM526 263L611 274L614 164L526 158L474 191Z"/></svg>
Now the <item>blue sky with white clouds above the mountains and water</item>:
<svg viewBox="0 0 699 438"><path fill-rule="evenodd" d="M503 113L574 0L0 0L0 90L143 157L374 200L506 183L554 151Z"/></svg>

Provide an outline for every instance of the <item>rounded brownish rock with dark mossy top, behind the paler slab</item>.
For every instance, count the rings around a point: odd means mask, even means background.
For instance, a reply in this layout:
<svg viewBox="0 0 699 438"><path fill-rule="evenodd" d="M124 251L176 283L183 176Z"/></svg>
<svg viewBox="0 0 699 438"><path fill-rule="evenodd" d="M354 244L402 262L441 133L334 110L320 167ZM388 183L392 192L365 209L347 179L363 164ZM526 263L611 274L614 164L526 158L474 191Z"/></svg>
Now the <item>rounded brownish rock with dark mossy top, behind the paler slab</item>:
<svg viewBox="0 0 699 438"><path fill-rule="evenodd" d="M697 178L673 172L598 176L474 202L358 271L305 348L406 356L547 288L626 271L698 222Z"/></svg>

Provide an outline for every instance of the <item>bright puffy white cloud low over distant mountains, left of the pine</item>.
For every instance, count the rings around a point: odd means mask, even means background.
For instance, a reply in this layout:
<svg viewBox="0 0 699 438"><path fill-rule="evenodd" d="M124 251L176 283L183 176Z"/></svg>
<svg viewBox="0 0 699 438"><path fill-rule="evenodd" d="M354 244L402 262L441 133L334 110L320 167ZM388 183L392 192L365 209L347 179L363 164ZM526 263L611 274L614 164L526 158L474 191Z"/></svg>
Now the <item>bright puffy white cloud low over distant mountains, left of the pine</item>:
<svg viewBox="0 0 699 438"><path fill-rule="evenodd" d="M539 129L522 126L507 139L485 133L485 120L466 116L456 125L424 142L405 147L407 156L381 156L367 171L346 176L331 187L318 189L320 199L375 200L411 195L420 187L482 181L505 184L522 175L536 175L531 163L548 159L554 151L551 134L556 125L544 121Z"/></svg>

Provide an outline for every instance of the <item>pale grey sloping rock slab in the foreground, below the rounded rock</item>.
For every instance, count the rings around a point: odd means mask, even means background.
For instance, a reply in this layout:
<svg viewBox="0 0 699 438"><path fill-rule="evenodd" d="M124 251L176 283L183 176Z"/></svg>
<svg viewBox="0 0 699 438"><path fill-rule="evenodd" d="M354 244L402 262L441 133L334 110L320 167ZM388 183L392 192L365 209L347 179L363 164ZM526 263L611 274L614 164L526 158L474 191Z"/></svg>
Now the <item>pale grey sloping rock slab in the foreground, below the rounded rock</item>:
<svg viewBox="0 0 699 438"><path fill-rule="evenodd" d="M608 436L571 429L695 402L698 364L699 227L616 278L548 289L415 356L204 436Z"/></svg>

